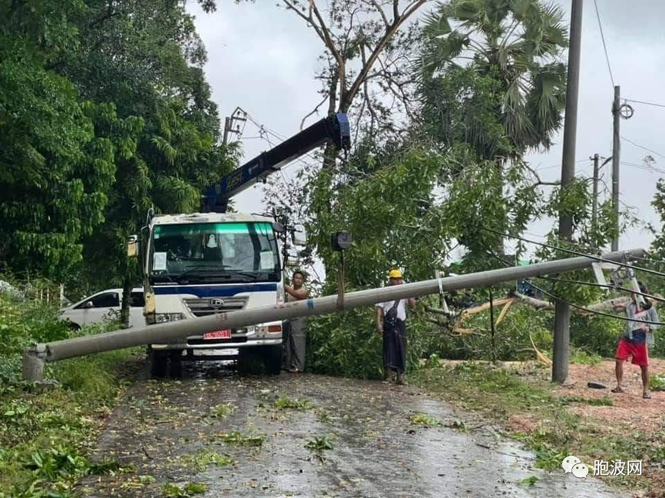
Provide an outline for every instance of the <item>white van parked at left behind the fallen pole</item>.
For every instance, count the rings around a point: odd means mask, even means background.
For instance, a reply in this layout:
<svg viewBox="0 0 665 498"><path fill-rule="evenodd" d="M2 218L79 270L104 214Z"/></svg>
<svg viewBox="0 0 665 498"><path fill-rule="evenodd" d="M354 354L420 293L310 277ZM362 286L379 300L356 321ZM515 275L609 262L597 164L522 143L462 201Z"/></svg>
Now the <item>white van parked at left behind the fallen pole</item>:
<svg viewBox="0 0 665 498"><path fill-rule="evenodd" d="M107 289L82 301L60 310L60 320L69 322L70 326L80 329L82 326L113 319L120 316L123 302L122 289ZM143 317L143 287L132 289L132 307L130 308L130 326L145 325Z"/></svg>

